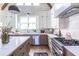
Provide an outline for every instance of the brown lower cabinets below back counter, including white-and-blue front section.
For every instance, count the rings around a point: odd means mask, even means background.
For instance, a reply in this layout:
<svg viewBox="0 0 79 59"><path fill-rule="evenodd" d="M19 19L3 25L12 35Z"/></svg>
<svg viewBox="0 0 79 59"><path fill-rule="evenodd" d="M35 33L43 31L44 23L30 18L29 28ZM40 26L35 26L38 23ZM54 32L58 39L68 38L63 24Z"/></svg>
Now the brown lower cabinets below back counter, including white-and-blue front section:
<svg viewBox="0 0 79 59"><path fill-rule="evenodd" d="M32 35L32 45L48 45L48 36Z"/></svg>

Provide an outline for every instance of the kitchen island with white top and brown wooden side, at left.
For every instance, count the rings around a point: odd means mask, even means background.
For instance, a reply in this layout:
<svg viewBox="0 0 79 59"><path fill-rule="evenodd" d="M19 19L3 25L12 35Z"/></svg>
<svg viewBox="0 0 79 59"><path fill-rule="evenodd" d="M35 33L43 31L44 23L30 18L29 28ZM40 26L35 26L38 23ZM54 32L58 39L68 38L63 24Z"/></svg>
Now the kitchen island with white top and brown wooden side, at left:
<svg viewBox="0 0 79 59"><path fill-rule="evenodd" d="M24 51L23 49L27 50L25 45L28 44L27 41L29 39L30 36L10 36L10 41L8 44L2 44L0 39L0 56L24 55L27 53L27 51Z"/></svg>

